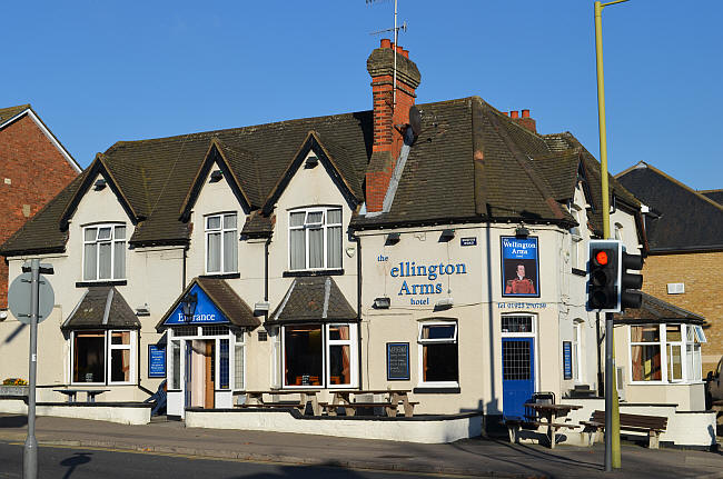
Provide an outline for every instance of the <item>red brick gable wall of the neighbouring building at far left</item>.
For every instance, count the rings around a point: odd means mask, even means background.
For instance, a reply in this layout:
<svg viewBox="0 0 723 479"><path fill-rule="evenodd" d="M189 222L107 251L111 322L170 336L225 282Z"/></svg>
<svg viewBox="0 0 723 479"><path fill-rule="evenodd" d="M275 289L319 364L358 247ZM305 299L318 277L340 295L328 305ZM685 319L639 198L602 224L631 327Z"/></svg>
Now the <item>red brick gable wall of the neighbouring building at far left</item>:
<svg viewBox="0 0 723 479"><path fill-rule="evenodd" d="M28 116L0 130L0 245L78 174ZM8 266L0 260L0 309L8 307Z"/></svg>

